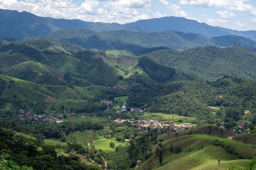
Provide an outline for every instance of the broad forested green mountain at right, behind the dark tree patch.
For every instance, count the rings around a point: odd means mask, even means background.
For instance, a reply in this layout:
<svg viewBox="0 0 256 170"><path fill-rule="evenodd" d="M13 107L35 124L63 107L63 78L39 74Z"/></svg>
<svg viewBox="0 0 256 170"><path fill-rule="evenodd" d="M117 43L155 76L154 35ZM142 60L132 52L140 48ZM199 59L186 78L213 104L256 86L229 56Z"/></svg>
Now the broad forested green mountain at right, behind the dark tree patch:
<svg viewBox="0 0 256 170"><path fill-rule="evenodd" d="M200 81L216 81L225 75L256 79L256 53L239 45L227 48L196 47L184 51L172 49L142 55L158 64Z"/></svg>

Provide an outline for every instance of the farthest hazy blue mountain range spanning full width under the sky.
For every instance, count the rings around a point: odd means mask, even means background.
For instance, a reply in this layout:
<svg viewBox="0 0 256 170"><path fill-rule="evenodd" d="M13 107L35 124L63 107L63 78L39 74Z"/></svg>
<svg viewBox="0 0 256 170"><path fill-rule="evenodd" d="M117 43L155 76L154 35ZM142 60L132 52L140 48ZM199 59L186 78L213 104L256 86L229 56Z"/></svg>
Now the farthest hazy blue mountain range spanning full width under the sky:
<svg viewBox="0 0 256 170"><path fill-rule="evenodd" d="M87 28L92 31L117 31L132 30L138 32L154 31L181 31L184 33L198 33L206 37L222 35L238 35L256 40L256 31L236 31L222 27L209 26L195 20L181 17L163 17L137 22L118 24L102 22L86 22L82 20L54 19L50 17L38 17L28 12L18 12L0 9L0 38L9 40L22 40L35 35L47 35L58 30L73 28Z"/></svg>

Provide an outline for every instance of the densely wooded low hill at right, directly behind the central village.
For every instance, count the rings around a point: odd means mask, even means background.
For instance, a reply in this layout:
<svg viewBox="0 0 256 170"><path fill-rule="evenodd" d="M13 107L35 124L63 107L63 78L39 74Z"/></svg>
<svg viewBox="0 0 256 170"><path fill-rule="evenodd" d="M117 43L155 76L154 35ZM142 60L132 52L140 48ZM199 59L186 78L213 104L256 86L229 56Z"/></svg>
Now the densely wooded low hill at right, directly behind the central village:
<svg viewBox="0 0 256 170"><path fill-rule="evenodd" d="M232 82L232 79L220 81ZM204 82L179 81L133 93L128 104L148 108L149 112L195 117L195 122L217 124L244 120L255 124L255 91L254 81L221 87ZM209 106L219 109L212 111ZM245 114L245 110L251 114Z"/></svg>

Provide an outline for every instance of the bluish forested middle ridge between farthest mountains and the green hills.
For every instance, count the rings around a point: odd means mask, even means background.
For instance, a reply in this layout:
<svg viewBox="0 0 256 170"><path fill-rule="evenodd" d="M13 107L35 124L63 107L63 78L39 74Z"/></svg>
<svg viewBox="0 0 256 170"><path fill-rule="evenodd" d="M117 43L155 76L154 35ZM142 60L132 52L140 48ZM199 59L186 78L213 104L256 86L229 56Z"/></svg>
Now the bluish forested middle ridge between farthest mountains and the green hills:
<svg viewBox="0 0 256 170"><path fill-rule="evenodd" d="M233 44L255 49L256 42L239 36L207 38L195 33L173 31L141 33L136 31L94 32L85 28L56 31L49 35L32 37L32 40L51 40L82 46L85 49L136 51L141 48L166 46L171 49L189 49L196 46L222 46Z"/></svg>

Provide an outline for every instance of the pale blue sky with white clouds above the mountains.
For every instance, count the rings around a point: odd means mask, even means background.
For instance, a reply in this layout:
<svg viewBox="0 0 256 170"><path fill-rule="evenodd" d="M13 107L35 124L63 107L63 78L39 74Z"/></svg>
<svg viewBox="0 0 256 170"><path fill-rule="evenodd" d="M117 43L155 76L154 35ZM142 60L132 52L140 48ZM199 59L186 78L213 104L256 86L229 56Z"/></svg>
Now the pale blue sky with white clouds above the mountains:
<svg viewBox="0 0 256 170"><path fill-rule="evenodd" d="M0 9L119 24L176 16L232 30L256 30L256 0L0 0Z"/></svg>

